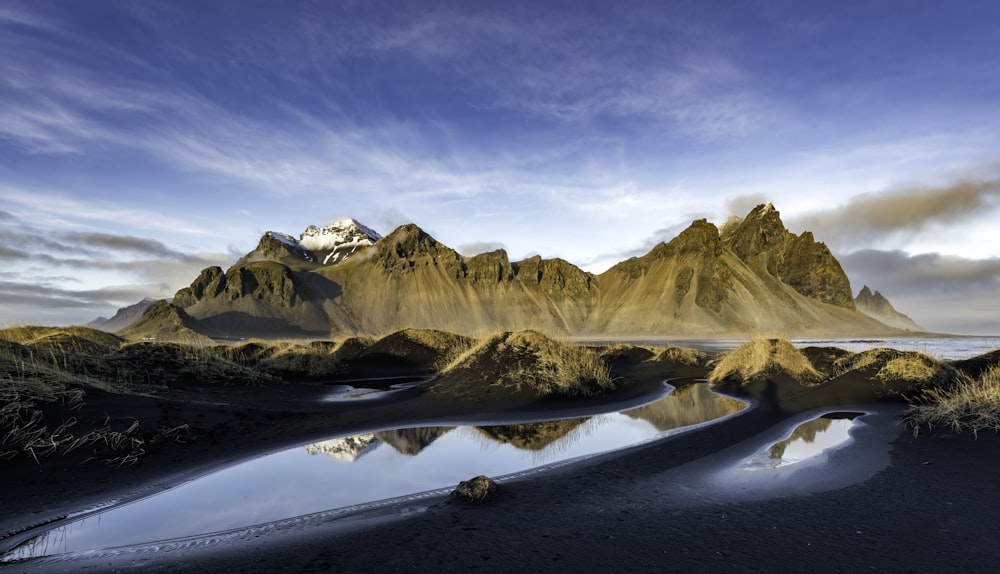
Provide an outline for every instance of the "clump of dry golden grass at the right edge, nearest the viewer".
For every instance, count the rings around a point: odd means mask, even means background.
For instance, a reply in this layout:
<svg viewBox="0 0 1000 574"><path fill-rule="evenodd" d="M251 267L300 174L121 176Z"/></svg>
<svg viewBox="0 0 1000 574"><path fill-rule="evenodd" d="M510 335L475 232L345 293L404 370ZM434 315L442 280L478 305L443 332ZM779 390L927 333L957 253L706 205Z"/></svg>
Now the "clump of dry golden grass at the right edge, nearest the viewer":
<svg viewBox="0 0 1000 574"><path fill-rule="evenodd" d="M960 374L951 385L925 390L912 402L905 418L914 436L922 428L973 435L1000 431L1000 365L985 371L978 380Z"/></svg>

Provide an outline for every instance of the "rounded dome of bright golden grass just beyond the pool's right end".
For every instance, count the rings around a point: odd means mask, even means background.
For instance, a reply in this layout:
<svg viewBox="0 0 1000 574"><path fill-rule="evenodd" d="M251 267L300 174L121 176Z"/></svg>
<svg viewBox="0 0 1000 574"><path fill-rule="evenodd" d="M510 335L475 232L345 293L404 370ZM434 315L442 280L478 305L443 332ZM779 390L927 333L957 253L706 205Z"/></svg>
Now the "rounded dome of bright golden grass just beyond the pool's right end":
<svg viewBox="0 0 1000 574"><path fill-rule="evenodd" d="M708 375L710 383L752 380L785 373L803 384L823 379L808 357L784 339L754 339L726 353Z"/></svg>

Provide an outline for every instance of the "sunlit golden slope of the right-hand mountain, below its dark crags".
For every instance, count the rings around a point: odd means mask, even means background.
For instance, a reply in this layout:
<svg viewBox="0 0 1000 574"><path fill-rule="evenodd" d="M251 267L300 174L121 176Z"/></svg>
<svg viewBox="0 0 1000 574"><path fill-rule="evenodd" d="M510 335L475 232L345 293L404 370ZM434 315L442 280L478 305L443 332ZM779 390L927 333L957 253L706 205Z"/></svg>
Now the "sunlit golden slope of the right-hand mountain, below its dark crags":
<svg viewBox="0 0 1000 574"><path fill-rule="evenodd" d="M810 282L808 273L788 263L792 258L786 254L801 240L788 240L785 234L795 236L781 226L782 243L776 246L772 239L778 234L768 238L765 233L752 233L748 221L749 217L740 224L742 233L756 236L753 238L759 243L756 248L741 248L746 261L728 246L736 237L739 248L739 235L727 238L714 225L700 220L669 243L600 275L604 297L595 317L602 321L594 325L596 331L612 335L886 331L884 325L854 311L853 304L848 308L824 302L782 281L776 274L804 279L798 283L807 290L824 284L822 280ZM770 229L775 230L773 226ZM850 293L849 283L847 289ZM820 295L828 301L842 300L832 289Z"/></svg>

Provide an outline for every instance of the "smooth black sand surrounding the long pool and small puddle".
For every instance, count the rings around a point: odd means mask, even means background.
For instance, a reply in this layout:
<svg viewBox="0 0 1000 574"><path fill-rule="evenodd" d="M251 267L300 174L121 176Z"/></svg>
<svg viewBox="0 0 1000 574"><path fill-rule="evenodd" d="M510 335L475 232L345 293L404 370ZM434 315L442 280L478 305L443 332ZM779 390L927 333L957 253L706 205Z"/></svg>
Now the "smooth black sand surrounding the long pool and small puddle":
<svg viewBox="0 0 1000 574"><path fill-rule="evenodd" d="M622 394L603 400L629 404L654 387L639 377ZM282 399L293 391L298 399ZM442 418L476 419L488 411L483 405L422 403L407 393L324 413L302 406L308 404L300 401L302 397L321 391L285 389L280 396L256 397L253 408L220 402L173 405L185 409L188 417L201 417L202 426L213 429L213 434L190 445L164 447L166 451L150 459L155 466L140 463L108 471L99 465L77 465L54 472L54 463L34 470L26 464L8 464L0 527L8 533L24 529L109 496L148 492L232 460L348 431L374 418L430 423ZM731 488L721 487L715 469L737 460L746 445L773 436L803 413L815 412L817 403L829 403L828 410L836 410L858 398L814 396L797 402L788 396L778 401L775 396L782 396L781 389L757 393L760 402L755 408L695 431L504 481L498 499L487 506L469 506L438 495L210 539L2 568L11 572L996 569L1000 497L994 489L1000 477L1000 438L990 434L978 440L926 435L914 439L897 426L899 407L882 404L871 407L878 414L867 419L867 430L855 436L855 445L832 455L826 466L769 486L733 482ZM509 416L595 406L515 403L493 407L502 406L504 416ZM822 491L809 492L814 489Z"/></svg>

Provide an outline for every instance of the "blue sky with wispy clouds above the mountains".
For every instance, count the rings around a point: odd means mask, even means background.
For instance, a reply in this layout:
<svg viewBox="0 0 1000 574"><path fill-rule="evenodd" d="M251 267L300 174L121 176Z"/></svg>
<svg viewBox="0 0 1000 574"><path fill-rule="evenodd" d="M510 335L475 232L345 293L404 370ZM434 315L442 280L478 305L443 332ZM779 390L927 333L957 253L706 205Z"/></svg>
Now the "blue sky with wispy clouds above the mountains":
<svg viewBox="0 0 1000 574"><path fill-rule="evenodd" d="M260 235L414 222L600 272L771 201L855 291L1000 333L991 1L0 4L0 321Z"/></svg>

